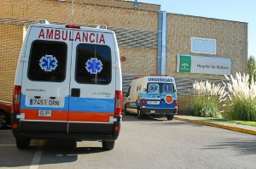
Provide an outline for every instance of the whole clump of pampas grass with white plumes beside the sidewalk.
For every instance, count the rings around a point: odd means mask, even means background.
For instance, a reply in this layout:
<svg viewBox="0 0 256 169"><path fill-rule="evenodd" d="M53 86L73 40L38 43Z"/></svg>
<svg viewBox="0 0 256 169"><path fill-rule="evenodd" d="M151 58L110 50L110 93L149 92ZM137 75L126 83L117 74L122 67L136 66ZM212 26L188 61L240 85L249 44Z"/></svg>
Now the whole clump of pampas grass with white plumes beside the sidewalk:
<svg viewBox="0 0 256 169"><path fill-rule="evenodd" d="M192 115L220 118L224 114L231 120L256 121L256 82L253 78L250 82L249 75L241 73L225 78L230 82L223 85L195 81Z"/></svg>

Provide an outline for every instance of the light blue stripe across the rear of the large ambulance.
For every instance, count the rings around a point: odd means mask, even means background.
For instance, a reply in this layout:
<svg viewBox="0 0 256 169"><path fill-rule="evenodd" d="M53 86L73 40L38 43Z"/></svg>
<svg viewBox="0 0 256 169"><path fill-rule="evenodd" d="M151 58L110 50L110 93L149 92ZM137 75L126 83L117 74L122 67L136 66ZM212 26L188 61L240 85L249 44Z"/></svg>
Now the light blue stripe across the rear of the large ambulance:
<svg viewBox="0 0 256 169"><path fill-rule="evenodd" d="M114 112L114 99L73 98L68 96L65 97L65 104L62 108L26 106L25 100L26 96L21 94L20 109ZM68 109L68 103L72 105L70 109Z"/></svg>

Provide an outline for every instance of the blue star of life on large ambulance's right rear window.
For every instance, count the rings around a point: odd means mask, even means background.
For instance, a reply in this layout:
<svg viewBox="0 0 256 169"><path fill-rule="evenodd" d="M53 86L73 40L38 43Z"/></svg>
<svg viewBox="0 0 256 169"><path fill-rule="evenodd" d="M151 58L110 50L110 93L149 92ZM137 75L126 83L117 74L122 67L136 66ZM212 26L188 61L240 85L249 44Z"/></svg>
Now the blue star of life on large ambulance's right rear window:
<svg viewBox="0 0 256 169"><path fill-rule="evenodd" d="M97 74L102 71L102 61L96 58L88 59L85 68L90 74Z"/></svg>

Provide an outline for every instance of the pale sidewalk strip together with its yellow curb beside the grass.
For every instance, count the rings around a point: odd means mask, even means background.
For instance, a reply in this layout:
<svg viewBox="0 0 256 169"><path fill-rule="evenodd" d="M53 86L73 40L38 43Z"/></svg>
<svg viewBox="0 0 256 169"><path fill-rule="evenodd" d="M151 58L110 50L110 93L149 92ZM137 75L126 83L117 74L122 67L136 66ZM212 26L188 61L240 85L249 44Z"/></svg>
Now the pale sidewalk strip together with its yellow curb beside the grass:
<svg viewBox="0 0 256 169"><path fill-rule="evenodd" d="M224 121L213 121L210 119L205 119L203 117L196 117L190 115L174 115L174 119L178 121L189 121L197 124L207 125L211 127L220 127L236 132L246 132L249 134L256 135L256 127L251 127L247 125L241 125L236 123L229 123Z"/></svg>

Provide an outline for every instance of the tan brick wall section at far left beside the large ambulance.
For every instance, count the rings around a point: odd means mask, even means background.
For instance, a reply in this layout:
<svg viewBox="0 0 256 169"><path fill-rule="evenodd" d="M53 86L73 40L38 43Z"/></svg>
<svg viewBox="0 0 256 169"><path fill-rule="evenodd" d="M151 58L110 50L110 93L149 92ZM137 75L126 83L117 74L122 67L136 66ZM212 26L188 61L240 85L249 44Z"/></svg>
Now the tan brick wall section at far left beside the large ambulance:
<svg viewBox="0 0 256 169"><path fill-rule="evenodd" d="M22 34L23 28L20 25L0 24L1 100L11 101L12 99L15 82L15 70L22 44Z"/></svg>

